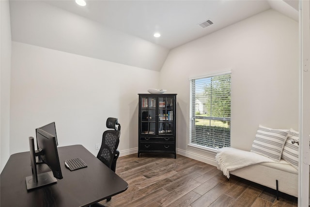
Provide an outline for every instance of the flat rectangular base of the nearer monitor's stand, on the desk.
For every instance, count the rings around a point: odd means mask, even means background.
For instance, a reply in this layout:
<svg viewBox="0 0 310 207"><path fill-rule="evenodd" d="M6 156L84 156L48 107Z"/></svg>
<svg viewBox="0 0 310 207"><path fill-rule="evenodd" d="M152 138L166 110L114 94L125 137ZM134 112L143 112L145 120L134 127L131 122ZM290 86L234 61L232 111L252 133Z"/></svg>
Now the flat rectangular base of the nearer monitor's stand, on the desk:
<svg viewBox="0 0 310 207"><path fill-rule="evenodd" d="M48 184L56 183L57 179L54 177L53 172L49 171L47 173L38 174L38 182L35 182L33 176L26 177L27 190L39 188Z"/></svg>

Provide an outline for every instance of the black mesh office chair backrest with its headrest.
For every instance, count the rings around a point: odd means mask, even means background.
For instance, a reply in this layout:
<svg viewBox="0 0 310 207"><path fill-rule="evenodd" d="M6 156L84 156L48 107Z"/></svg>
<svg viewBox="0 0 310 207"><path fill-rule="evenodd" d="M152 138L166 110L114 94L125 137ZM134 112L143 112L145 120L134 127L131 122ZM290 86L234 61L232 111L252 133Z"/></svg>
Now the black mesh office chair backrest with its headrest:
<svg viewBox="0 0 310 207"><path fill-rule="evenodd" d="M108 118L107 127L113 128L113 130L103 132L102 143L97 158L111 168L116 149L120 143L121 125L118 123L117 118Z"/></svg>

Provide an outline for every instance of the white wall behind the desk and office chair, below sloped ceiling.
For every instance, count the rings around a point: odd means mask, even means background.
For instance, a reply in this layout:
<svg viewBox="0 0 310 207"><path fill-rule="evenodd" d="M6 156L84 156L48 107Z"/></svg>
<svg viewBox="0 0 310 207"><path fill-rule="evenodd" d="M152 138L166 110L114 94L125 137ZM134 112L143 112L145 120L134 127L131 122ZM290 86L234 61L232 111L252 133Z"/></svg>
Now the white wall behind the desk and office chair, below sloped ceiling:
<svg viewBox="0 0 310 207"><path fill-rule="evenodd" d="M59 146L96 155L108 117L122 126L121 155L137 150L137 94L159 82L156 71L14 41L11 76L11 154L28 151L35 128L55 121Z"/></svg>

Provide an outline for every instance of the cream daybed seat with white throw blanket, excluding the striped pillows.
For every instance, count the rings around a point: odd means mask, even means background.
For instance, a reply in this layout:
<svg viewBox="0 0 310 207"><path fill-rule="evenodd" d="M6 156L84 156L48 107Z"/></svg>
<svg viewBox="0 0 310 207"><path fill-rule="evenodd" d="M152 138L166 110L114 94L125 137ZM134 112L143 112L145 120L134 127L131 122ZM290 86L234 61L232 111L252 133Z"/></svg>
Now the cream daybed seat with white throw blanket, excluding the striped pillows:
<svg viewBox="0 0 310 207"><path fill-rule="evenodd" d="M288 161L275 161L263 155L232 147L217 151L217 169L295 197L298 196L298 170Z"/></svg>

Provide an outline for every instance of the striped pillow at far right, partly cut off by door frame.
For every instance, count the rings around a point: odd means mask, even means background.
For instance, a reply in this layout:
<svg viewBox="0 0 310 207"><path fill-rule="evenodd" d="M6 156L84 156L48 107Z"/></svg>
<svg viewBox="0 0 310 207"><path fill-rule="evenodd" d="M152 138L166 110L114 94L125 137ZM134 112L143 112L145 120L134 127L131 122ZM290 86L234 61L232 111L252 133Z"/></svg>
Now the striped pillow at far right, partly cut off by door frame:
<svg viewBox="0 0 310 207"><path fill-rule="evenodd" d="M291 128L287 134L287 140L284 144L282 159L289 162L294 168L298 170L298 144L292 144L292 140L298 141L299 133L298 131L295 131Z"/></svg>

